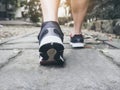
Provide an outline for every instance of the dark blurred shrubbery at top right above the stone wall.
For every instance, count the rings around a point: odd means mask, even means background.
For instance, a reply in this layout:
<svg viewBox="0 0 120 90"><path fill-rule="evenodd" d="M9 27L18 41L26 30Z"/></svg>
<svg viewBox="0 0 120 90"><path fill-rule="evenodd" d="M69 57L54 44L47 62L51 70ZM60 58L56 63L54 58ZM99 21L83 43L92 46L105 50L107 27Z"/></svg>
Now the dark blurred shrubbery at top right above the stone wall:
<svg viewBox="0 0 120 90"><path fill-rule="evenodd" d="M94 7L87 17L99 19L120 18L120 0L91 0L91 2L94 3Z"/></svg>

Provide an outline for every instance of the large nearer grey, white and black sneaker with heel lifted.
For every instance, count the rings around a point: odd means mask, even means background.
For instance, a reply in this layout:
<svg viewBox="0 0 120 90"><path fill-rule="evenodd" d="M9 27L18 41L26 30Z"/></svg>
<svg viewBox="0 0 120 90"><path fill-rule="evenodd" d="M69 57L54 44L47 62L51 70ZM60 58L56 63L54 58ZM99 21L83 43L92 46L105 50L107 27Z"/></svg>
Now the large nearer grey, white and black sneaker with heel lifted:
<svg viewBox="0 0 120 90"><path fill-rule="evenodd" d="M63 65L63 33L59 24L48 21L42 24L38 35L40 64L41 65Z"/></svg>

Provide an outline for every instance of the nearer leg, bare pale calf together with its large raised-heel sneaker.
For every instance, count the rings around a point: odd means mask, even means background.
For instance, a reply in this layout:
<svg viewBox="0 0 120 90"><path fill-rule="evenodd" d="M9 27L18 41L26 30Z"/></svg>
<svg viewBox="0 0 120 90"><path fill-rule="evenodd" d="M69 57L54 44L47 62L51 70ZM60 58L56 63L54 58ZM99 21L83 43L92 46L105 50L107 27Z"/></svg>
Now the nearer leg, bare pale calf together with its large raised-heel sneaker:
<svg viewBox="0 0 120 90"><path fill-rule="evenodd" d="M38 35L40 64L63 64L63 33L58 24L59 0L41 0L43 23Z"/></svg>

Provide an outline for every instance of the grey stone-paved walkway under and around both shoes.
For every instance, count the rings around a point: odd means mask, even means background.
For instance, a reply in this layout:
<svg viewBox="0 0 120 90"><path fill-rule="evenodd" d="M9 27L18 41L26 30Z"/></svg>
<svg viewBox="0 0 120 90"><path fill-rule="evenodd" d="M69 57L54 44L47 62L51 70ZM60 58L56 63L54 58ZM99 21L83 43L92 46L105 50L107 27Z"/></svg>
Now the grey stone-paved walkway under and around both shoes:
<svg viewBox="0 0 120 90"><path fill-rule="evenodd" d="M120 49L96 41L88 31L85 48L73 49L66 31L71 28L62 28L63 67L39 65L38 32L1 42L0 90L120 90Z"/></svg>

